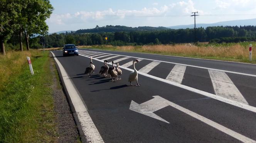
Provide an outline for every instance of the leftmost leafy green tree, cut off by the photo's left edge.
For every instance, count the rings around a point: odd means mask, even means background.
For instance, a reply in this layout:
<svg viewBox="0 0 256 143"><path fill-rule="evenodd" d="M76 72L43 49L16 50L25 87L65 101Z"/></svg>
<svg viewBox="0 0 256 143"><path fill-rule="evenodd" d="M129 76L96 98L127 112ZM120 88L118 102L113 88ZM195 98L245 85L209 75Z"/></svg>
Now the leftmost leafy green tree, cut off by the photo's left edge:
<svg viewBox="0 0 256 143"><path fill-rule="evenodd" d="M22 9L23 0L0 0L0 53L5 55L4 42L17 28L15 18Z"/></svg>

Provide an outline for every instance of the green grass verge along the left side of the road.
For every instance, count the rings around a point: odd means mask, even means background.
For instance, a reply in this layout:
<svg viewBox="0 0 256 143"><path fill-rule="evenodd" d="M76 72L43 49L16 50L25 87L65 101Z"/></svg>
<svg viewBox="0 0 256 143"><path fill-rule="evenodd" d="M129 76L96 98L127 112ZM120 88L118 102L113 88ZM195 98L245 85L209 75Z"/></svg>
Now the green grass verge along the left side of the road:
<svg viewBox="0 0 256 143"><path fill-rule="evenodd" d="M9 51L0 63L0 142L56 141L49 52Z"/></svg>

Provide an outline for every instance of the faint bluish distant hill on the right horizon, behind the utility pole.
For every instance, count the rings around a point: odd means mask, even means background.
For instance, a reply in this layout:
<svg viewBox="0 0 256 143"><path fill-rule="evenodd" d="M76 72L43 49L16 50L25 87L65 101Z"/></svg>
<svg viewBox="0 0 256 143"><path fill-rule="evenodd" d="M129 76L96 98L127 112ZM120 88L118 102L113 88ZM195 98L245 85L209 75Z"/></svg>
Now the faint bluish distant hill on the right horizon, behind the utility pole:
<svg viewBox="0 0 256 143"><path fill-rule="evenodd" d="M217 23L211 23L211 24L204 24L204 23L198 23L197 27L209 27L209 26L244 26L244 25L256 25L256 19L248 19L248 20L232 20L232 21L222 21ZM186 29L186 28L194 28L194 24L190 25L177 25L177 26L170 26L167 27L170 29Z"/></svg>

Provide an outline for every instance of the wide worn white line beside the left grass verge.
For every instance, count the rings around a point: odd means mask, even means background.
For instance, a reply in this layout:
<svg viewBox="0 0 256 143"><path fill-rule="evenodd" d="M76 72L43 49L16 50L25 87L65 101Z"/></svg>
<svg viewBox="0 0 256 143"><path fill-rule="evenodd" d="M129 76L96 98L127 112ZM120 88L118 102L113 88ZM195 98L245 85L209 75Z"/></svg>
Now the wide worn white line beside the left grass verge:
<svg viewBox="0 0 256 143"><path fill-rule="evenodd" d="M71 78L68 76L67 72L65 71L59 60L55 57L54 53L52 53L52 56L54 57L57 65L59 66L61 76L63 77L67 92L76 110L76 114L81 124L86 140L90 143L104 143L101 135L99 134L99 131L97 130L96 126L93 123L93 120L88 113L88 110L86 109L86 105L84 105L79 92L74 87Z"/></svg>

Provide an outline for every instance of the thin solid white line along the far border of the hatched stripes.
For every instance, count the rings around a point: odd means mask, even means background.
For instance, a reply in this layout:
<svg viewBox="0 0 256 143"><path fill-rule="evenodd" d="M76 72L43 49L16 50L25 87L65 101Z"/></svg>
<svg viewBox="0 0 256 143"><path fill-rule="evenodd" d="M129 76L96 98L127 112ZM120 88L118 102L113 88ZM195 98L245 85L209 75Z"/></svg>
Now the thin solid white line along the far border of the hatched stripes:
<svg viewBox="0 0 256 143"><path fill-rule="evenodd" d="M86 51L86 50L83 50L83 51ZM98 53L102 53L102 52L98 52ZM109 53L105 53L105 54L109 54ZM112 54L112 55L124 56L124 55L120 55L120 54ZM126 56L126 57L131 57L131 56ZM136 59L138 59L138 57L131 57L131 58L136 58ZM139 58L139 59L146 59L146 58ZM153 59L146 59L146 60L150 60L150 61L159 61L159 60L153 60ZM170 63L170 64L180 64L180 63L167 62L167 61L159 61L159 62L166 62L166 63ZM201 69L211 69L211 70L216 70L216 71L229 72L229 73L233 73L233 74L241 74L241 75L244 75L244 76L253 76L253 77L256 77L256 75L254 75L254 74L245 74L245 73L241 73L241 72L226 71L226 70L221 70L221 69L212 69L212 68L208 68L208 67L199 67L199 66L193 66L193 65L188 65L188 64L180 64L180 65L189 66L189 67L197 67L197 68L201 68Z"/></svg>

